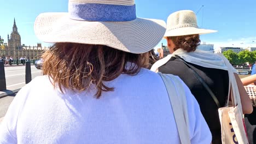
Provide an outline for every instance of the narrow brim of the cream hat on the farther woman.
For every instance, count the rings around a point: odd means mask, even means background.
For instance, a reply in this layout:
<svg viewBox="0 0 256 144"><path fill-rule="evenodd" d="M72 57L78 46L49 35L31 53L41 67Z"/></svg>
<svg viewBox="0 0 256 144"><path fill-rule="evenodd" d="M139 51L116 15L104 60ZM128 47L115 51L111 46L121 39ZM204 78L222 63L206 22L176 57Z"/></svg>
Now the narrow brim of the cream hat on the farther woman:
<svg viewBox="0 0 256 144"><path fill-rule="evenodd" d="M177 37L182 35L207 34L207 33L215 33L215 32L218 32L218 31L214 31L211 29L196 28L196 27L182 27L182 28L176 28L170 31L166 31L164 37Z"/></svg>

